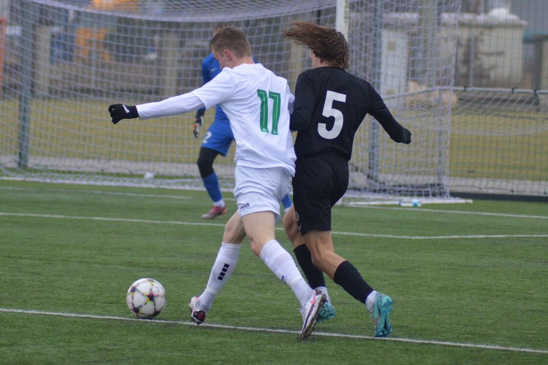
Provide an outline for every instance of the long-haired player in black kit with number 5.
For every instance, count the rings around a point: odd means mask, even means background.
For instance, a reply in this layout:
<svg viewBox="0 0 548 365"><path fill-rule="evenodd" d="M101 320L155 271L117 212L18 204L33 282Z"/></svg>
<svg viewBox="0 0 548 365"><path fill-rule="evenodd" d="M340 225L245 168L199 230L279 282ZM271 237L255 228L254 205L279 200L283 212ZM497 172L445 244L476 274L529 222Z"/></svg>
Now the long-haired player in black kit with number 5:
<svg viewBox="0 0 548 365"><path fill-rule="evenodd" d="M290 129L298 131L297 160L293 207L284 216L284 229L310 286L325 287L322 271L327 273L368 307L375 337L387 337L392 332L392 300L373 290L349 261L335 254L331 208L348 187L352 143L366 114L395 142L409 144L411 133L394 119L370 83L346 72L349 49L342 33L299 20L282 36L310 48L313 67L302 72L295 85Z"/></svg>

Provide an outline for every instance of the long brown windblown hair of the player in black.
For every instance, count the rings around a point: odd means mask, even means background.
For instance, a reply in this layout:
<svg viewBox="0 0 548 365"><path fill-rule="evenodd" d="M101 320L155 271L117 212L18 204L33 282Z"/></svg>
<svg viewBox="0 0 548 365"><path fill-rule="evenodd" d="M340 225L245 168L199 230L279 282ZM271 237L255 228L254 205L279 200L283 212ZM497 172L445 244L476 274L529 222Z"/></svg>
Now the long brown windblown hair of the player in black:
<svg viewBox="0 0 548 365"><path fill-rule="evenodd" d="M329 66L348 69L349 49L343 33L305 20L292 21L291 24L288 30L282 32L282 38L292 39L294 43L310 48Z"/></svg>

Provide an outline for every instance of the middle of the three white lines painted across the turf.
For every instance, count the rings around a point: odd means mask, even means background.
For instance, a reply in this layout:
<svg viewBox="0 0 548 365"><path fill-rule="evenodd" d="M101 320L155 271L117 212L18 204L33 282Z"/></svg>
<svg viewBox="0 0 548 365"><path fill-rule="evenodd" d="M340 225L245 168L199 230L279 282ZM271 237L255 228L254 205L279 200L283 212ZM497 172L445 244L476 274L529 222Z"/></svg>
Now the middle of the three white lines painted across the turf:
<svg viewBox="0 0 548 365"><path fill-rule="evenodd" d="M83 220L99 220L99 221L113 221L113 222L128 222L128 223L150 223L150 224L177 224L177 225L191 225L191 226L215 226L224 227L221 223L196 223L196 222L181 222L181 221L169 221L169 220L147 220L147 219L126 219L126 218L106 218L100 216L68 216L68 215L56 215L56 214L32 214L32 213L8 213L0 212L1 215L6 216L27 216L35 218L58 218L58 219L83 219ZM283 228L276 228L279 231L283 231ZM466 236L396 236L396 235L375 235L373 233L354 233L354 232L332 232L334 235L349 235L349 236L361 236L361 237L382 237L382 238L399 238L399 239L453 239L453 238L543 238L548 237L546 235L466 235Z"/></svg>

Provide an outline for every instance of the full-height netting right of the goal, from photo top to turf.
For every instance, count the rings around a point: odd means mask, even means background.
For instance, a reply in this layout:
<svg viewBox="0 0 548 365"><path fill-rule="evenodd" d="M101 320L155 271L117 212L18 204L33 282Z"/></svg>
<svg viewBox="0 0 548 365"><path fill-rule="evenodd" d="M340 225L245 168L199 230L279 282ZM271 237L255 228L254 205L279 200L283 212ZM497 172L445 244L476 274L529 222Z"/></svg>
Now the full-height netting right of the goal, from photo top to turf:
<svg viewBox="0 0 548 365"><path fill-rule="evenodd" d="M548 196L548 2L463 0L449 186Z"/></svg>

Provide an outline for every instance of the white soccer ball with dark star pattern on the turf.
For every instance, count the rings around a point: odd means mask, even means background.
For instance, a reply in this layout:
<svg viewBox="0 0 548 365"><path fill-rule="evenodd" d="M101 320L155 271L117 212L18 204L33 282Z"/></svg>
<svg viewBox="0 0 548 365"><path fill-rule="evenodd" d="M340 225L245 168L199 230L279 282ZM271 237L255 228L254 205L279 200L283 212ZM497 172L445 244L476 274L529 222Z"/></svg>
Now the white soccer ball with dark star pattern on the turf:
<svg viewBox="0 0 548 365"><path fill-rule="evenodd" d="M165 290L156 280L142 278L129 287L125 301L136 316L150 319L164 309Z"/></svg>

